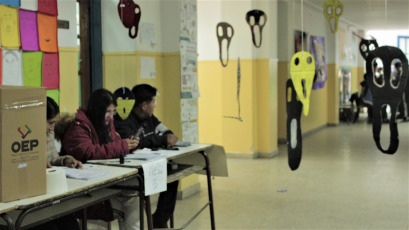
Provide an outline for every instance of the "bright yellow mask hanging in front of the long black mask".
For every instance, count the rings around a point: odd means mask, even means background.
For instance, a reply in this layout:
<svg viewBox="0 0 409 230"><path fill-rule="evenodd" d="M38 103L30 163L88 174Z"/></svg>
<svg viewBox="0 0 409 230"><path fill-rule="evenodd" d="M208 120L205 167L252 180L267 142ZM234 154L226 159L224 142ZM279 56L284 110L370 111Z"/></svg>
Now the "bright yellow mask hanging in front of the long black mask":
<svg viewBox="0 0 409 230"><path fill-rule="evenodd" d="M311 88L315 75L314 57L305 51L294 54L291 58L290 74L298 98L303 104L304 115L308 116Z"/></svg>

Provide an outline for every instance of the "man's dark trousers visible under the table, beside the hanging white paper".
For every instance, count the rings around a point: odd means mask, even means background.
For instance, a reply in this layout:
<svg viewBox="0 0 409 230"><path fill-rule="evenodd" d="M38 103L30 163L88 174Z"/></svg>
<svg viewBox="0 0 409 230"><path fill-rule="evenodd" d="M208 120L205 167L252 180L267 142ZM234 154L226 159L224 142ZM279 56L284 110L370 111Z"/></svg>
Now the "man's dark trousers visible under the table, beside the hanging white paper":
<svg viewBox="0 0 409 230"><path fill-rule="evenodd" d="M167 228L167 222L173 214L176 205L179 181L168 184L165 192L159 194L158 205L152 215L153 228Z"/></svg>

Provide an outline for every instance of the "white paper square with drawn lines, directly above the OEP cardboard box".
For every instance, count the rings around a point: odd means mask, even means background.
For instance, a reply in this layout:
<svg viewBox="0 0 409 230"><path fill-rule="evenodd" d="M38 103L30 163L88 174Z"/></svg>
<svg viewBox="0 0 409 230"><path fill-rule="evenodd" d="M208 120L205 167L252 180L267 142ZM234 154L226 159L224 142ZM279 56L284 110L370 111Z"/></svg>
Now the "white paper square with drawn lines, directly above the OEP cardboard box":
<svg viewBox="0 0 409 230"><path fill-rule="evenodd" d="M23 86L22 59L20 50L2 50L3 85Z"/></svg>

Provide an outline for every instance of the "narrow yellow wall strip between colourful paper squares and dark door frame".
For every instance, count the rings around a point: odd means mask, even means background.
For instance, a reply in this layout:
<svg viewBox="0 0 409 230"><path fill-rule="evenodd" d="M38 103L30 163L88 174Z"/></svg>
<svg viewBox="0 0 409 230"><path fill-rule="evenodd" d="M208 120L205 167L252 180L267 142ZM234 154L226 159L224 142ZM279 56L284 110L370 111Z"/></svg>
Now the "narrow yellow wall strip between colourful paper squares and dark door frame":
<svg viewBox="0 0 409 230"><path fill-rule="evenodd" d="M60 110L74 113L79 107L78 48L59 47Z"/></svg>

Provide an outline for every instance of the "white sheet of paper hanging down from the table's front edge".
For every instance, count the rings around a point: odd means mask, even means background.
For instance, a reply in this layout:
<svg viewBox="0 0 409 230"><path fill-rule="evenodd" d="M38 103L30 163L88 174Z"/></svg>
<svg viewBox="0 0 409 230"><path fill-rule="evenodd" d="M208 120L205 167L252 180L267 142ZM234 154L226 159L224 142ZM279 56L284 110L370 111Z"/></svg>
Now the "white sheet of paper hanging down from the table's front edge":
<svg viewBox="0 0 409 230"><path fill-rule="evenodd" d="M166 191L168 172L165 158L143 163L142 168L145 196Z"/></svg>

